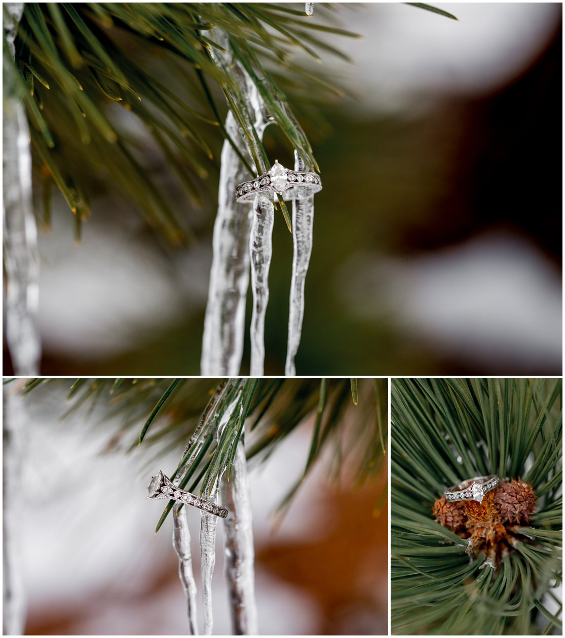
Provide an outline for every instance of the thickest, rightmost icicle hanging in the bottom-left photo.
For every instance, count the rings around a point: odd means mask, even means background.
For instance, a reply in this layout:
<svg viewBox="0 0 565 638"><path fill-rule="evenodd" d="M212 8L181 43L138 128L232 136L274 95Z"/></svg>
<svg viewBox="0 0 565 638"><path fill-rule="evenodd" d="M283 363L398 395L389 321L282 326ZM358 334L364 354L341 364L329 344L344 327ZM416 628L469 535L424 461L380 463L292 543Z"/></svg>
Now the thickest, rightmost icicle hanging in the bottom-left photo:
<svg viewBox="0 0 565 638"><path fill-rule="evenodd" d="M230 480L222 483L222 504L229 509L225 519L225 574L233 633L256 635L259 630L255 604L253 521L243 434L237 444Z"/></svg>

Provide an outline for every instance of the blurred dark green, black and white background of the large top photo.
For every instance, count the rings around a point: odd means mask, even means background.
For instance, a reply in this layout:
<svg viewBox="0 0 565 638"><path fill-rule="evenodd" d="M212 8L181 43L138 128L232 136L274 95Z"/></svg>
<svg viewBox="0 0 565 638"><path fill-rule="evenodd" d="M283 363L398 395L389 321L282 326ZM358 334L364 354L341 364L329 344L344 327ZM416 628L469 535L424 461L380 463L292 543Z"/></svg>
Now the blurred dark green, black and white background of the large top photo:
<svg viewBox="0 0 565 638"><path fill-rule="evenodd" d="M330 36L352 63L321 52L313 68L345 96L315 117L298 109L324 180L298 374L561 374L562 5L437 6L458 21L335 4L338 25L364 37ZM197 242L154 237L107 180L76 246L56 197L40 235L42 373L197 374L218 167L195 209L119 113ZM266 147L290 165L273 128ZM292 239L280 216L273 242L266 374L282 373L286 350Z"/></svg>

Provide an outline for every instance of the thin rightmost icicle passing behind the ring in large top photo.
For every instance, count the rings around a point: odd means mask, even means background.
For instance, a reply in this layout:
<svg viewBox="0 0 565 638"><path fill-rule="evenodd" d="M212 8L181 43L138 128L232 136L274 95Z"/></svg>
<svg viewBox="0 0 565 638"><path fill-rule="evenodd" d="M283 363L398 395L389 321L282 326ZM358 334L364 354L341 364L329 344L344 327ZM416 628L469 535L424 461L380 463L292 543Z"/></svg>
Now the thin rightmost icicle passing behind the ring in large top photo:
<svg viewBox="0 0 565 638"><path fill-rule="evenodd" d="M294 151L294 170L304 171L304 160ZM300 345L302 319L304 316L304 284L310 255L312 255L312 230L314 223L314 196L308 188L297 189L292 200L292 278L290 280L289 338L285 375L296 375L294 357Z"/></svg>

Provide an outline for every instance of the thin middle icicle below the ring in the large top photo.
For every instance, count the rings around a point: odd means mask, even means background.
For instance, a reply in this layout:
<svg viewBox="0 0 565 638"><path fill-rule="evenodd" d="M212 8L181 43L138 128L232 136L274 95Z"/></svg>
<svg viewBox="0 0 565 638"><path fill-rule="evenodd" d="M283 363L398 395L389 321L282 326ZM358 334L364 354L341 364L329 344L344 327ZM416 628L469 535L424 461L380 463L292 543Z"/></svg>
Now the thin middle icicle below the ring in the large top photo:
<svg viewBox="0 0 565 638"><path fill-rule="evenodd" d="M269 301L269 267L273 255L273 202L262 195L255 197L253 225L249 242L253 315L251 318L250 375L262 376L265 360L265 313Z"/></svg>

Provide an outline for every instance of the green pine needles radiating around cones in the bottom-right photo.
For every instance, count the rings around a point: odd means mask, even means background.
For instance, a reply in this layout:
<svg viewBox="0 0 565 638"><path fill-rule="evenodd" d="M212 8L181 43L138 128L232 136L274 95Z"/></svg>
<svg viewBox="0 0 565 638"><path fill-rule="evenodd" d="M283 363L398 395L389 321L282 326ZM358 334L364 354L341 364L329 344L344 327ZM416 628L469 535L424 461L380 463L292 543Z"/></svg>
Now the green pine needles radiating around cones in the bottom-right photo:
<svg viewBox="0 0 565 638"><path fill-rule="evenodd" d="M561 380L393 380L393 633L559 632L546 605L561 581L561 391ZM531 484L538 506L528 525L498 523L506 536L485 555L432 506L490 473Z"/></svg>

